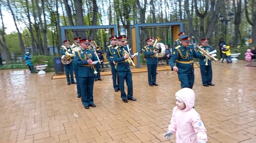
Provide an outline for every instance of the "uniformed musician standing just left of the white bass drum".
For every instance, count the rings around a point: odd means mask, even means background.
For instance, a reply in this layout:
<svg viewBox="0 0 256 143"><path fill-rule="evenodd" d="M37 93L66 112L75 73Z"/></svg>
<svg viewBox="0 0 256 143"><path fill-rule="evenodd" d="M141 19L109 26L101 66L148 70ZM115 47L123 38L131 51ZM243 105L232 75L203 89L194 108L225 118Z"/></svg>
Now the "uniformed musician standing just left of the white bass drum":
<svg viewBox="0 0 256 143"><path fill-rule="evenodd" d="M149 86L158 86L156 84L156 69L157 69L157 49L153 49L153 39L148 37L146 39L147 45L142 48L147 60L147 76Z"/></svg>

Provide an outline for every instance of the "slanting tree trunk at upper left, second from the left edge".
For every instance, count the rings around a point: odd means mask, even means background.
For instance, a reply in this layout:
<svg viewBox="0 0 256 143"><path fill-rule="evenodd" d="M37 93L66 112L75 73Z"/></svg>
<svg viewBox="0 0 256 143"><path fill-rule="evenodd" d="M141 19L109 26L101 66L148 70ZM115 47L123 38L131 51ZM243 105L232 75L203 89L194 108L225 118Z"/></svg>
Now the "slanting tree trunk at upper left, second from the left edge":
<svg viewBox="0 0 256 143"><path fill-rule="evenodd" d="M13 21L14 21L14 25L16 27L16 30L18 32L18 36L19 36L19 46L20 46L20 53L21 53L21 56L22 56L22 61L24 61L23 57L24 57L24 54L25 54L25 48L24 48L24 43L23 43L23 40L22 40L22 36L21 36L21 33L18 29L18 26L17 26L17 23L16 23L16 15L14 14L13 10L12 10L12 7L10 5L10 1L7 0L7 5L9 7L9 10L11 12L11 15L12 15L12 18L13 18Z"/></svg>

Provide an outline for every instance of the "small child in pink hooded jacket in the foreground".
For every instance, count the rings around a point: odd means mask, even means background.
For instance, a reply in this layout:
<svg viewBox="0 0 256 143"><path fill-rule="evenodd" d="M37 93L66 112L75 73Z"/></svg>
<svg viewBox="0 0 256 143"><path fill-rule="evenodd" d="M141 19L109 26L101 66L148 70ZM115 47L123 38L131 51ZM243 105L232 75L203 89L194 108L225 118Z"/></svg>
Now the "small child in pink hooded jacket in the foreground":
<svg viewBox="0 0 256 143"><path fill-rule="evenodd" d="M200 115L194 107L194 91L183 88L176 92L176 107L168 131L164 135L169 140L176 133L177 143L206 143L206 129L200 119Z"/></svg>

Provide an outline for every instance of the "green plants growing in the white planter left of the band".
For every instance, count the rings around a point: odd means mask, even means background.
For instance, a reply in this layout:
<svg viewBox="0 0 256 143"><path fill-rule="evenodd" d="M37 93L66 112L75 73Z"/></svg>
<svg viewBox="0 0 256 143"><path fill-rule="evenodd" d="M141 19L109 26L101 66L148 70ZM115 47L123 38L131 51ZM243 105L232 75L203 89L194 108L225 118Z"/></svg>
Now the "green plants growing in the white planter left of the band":
<svg viewBox="0 0 256 143"><path fill-rule="evenodd" d="M31 59L31 62L37 66L37 65L48 65L48 67L53 67L53 58L54 56L44 56L44 55L38 55L33 56Z"/></svg>

